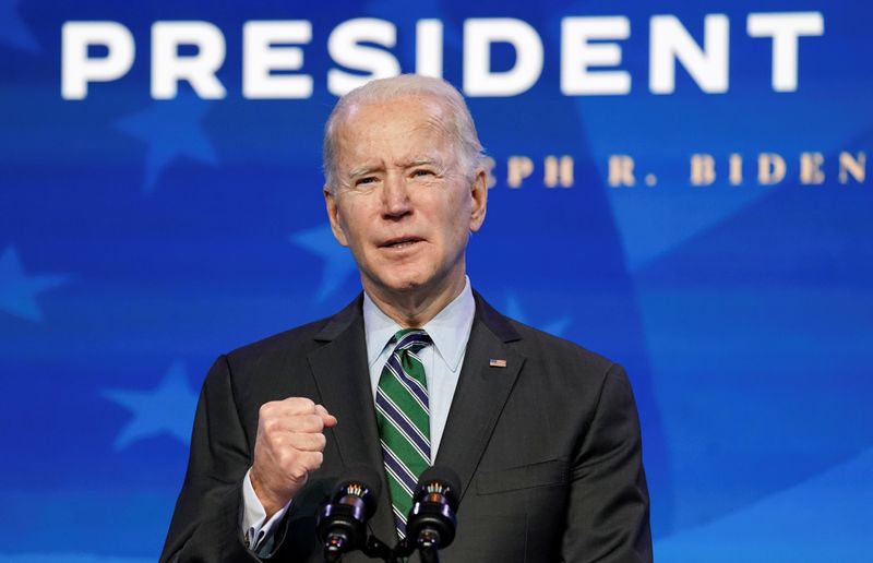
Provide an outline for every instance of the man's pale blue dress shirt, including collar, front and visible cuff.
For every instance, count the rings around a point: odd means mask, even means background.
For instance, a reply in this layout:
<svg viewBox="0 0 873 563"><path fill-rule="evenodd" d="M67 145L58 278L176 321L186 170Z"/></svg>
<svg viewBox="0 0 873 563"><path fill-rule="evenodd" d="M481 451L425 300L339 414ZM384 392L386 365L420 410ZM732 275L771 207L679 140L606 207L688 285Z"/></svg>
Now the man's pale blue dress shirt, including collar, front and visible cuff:
<svg viewBox="0 0 873 563"><path fill-rule="evenodd" d="M430 460L436 458L440 441L443 436L449 409L461 375L467 342L473 328L476 302L473 299L470 280L466 278L464 290L451 303L445 306L436 316L423 328L433 340L418 352L424 364L424 376L428 380L428 403L430 407ZM363 294L363 330L367 339L367 362L370 369L370 388L375 400L379 378L388 360L393 346L391 338L403 327L382 312L379 307ZM342 421L339 421L342 423ZM273 551L273 528L285 516L290 502L280 511L266 519L266 511L252 488L250 474L246 474L242 482L242 532L250 549L260 555Z"/></svg>

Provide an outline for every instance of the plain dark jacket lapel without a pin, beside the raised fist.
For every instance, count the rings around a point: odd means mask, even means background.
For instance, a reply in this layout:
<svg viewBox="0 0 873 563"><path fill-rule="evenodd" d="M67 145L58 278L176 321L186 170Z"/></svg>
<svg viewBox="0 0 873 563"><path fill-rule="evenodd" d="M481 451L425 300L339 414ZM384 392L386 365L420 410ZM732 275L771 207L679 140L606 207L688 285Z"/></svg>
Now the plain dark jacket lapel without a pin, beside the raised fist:
<svg viewBox="0 0 873 563"><path fill-rule="evenodd" d="M325 344L310 352L309 364L325 408L338 421L331 432L336 440L339 458L346 466L366 464L381 476L380 510L370 526L376 537L391 542L394 538L394 518L379 447L361 298L334 316L315 339Z"/></svg>

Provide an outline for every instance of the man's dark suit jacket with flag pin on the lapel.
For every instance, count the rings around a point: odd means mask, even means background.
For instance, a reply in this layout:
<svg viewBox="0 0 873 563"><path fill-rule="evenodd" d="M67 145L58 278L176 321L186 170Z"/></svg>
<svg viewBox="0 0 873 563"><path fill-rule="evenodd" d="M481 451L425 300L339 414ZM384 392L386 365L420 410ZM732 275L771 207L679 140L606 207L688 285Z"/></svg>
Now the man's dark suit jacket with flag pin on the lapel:
<svg viewBox="0 0 873 563"><path fill-rule="evenodd" d="M490 359L506 367L490 367ZM382 475L372 532L393 544L361 298L218 358L198 406L191 457L162 561L256 561L240 531L241 481L262 404L310 397L335 415L324 464L295 498L275 561L322 561L315 514L343 467ZM621 367L511 321L476 295L467 351L434 465L461 477L444 562L651 561L639 424ZM364 561L360 553L345 561Z"/></svg>

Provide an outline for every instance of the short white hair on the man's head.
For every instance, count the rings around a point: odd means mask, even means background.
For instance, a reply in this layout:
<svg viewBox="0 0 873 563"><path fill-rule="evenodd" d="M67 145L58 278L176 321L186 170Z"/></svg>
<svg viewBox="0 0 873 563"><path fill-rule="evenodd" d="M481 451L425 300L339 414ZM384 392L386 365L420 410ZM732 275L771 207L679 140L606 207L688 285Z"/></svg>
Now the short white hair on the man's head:
<svg viewBox="0 0 873 563"><path fill-rule="evenodd" d="M340 97L334 106L327 123L324 125L324 145L322 164L324 167L325 185L334 190L336 181L336 134L348 110L364 104L380 104L393 101L407 96L426 95L434 98L446 111L449 119L443 123L445 133L452 140L462 169L473 177L476 168L481 163L482 144L476 133L473 116L464 101L464 96L451 84L442 79L421 76L419 74L400 74L390 79L380 79L359 86Z"/></svg>

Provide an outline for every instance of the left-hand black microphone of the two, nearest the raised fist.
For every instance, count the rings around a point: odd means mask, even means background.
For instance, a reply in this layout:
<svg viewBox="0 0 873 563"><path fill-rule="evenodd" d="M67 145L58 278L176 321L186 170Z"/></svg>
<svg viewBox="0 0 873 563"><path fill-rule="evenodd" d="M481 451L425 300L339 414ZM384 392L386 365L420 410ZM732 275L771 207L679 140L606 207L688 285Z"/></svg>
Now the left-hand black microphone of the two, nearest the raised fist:
<svg viewBox="0 0 873 563"><path fill-rule="evenodd" d="M379 474L370 466L349 466L345 475L315 520L324 560L330 562L340 561L344 553L367 544L367 520L375 513L381 487Z"/></svg>

